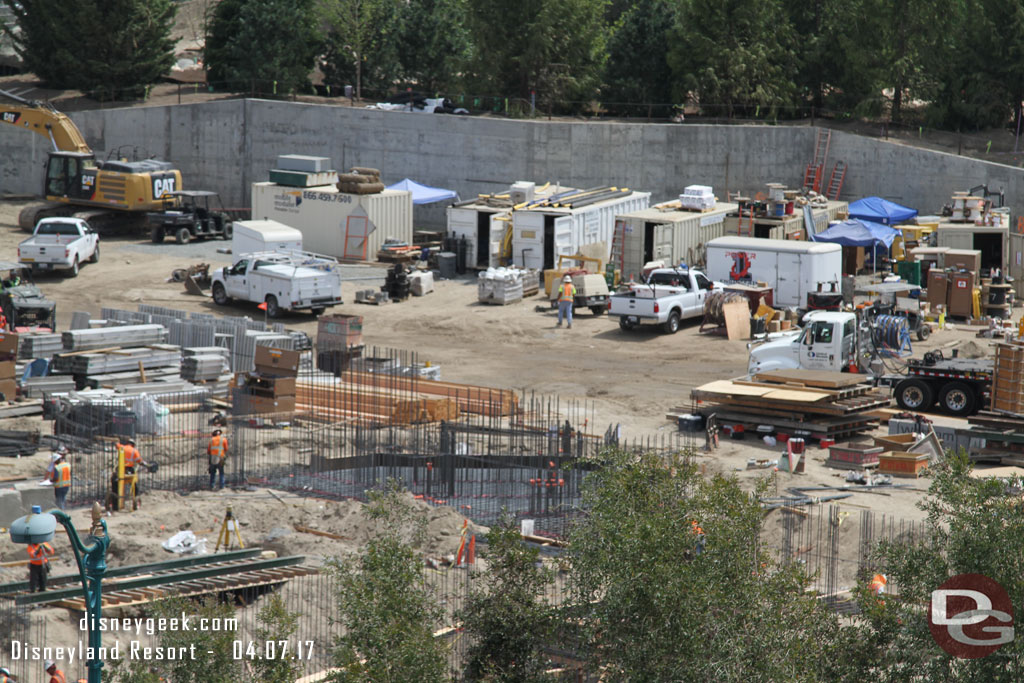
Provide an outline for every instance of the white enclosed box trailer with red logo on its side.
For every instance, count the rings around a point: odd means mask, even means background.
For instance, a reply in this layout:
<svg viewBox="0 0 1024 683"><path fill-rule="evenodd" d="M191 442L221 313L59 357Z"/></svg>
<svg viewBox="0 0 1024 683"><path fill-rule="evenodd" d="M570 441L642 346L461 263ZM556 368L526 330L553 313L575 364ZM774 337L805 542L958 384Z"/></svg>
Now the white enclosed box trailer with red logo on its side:
<svg viewBox="0 0 1024 683"><path fill-rule="evenodd" d="M708 276L730 283L767 283L776 306L807 307L807 294L818 286L839 291L843 248L824 242L724 237L708 243Z"/></svg>

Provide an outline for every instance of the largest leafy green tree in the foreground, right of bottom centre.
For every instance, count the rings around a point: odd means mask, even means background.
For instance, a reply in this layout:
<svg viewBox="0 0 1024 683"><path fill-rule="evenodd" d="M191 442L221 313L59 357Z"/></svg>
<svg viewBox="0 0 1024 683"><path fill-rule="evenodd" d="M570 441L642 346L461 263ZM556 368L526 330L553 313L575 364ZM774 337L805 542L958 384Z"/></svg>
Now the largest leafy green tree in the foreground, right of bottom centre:
<svg viewBox="0 0 1024 683"><path fill-rule="evenodd" d="M835 614L796 565L758 548L764 511L676 454L606 454L569 533L574 615L592 666L620 681L826 681ZM694 532L696 522L703 543Z"/></svg>

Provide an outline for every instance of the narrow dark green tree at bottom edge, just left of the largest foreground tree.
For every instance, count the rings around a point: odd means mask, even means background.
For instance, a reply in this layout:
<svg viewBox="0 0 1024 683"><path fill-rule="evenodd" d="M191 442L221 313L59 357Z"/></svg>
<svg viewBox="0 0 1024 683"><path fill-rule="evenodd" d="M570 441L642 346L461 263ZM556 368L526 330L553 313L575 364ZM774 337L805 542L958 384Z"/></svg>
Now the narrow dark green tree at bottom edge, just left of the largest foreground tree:
<svg viewBox="0 0 1024 683"><path fill-rule="evenodd" d="M466 635L466 677L494 683L552 680L541 647L551 634L551 610L543 601L552 572L537 566L540 553L522 545L514 519L506 516L487 535L485 587L474 587L461 613Z"/></svg>

